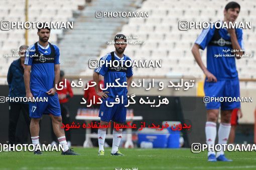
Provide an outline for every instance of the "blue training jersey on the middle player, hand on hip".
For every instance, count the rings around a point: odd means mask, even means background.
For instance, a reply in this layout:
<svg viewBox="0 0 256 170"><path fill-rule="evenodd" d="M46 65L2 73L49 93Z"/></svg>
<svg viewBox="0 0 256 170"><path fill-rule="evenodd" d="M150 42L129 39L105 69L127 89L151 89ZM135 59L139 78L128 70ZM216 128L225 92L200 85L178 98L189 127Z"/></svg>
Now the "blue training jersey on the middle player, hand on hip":
<svg viewBox="0 0 256 170"><path fill-rule="evenodd" d="M114 59L115 60L131 60L129 56L126 56L123 54L122 58L119 58L115 53L114 53ZM111 62L111 54L107 53L105 56L101 57L100 60L105 60L105 62ZM121 62L121 61L120 61ZM130 63L129 63L130 65ZM106 87L106 83L114 83L114 85L117 85L115 79L120 78L118 82L122 84L123 82L126 82L126 77L131 77L133 75L133 69L132 65L130 67L127 67L126 72L121 72L121 71L109 71L109 65L103 64L99 65L98 68L96 68L94 71L98 72L100 75L104 76L104 87ZM108 87L106 90L103 91L108 91L107 93L108 96L118 97L126 96L127 95L127 88L126 87Z"/></svg>

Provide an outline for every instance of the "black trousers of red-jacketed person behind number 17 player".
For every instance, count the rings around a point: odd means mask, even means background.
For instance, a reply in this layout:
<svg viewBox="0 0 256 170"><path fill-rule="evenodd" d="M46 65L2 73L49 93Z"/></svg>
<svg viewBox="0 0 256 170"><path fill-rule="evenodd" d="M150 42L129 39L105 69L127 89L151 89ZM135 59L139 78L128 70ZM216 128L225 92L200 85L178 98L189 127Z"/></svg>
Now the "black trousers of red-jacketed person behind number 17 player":
<svg viewBox="0 0 256 170"><path fill-rule="evenodd" d="M70 124L69 110L68 110L67 105L65 103L61 103L60 104L60 110L61 110L62 123ZM66 135L66 140L71 141L70 129L69 130L64 130L64 131L65 131L65 135ZM53 132L53 128L52 128L52 140L54 140L56 142L58 141L56 135Z"/></svg>

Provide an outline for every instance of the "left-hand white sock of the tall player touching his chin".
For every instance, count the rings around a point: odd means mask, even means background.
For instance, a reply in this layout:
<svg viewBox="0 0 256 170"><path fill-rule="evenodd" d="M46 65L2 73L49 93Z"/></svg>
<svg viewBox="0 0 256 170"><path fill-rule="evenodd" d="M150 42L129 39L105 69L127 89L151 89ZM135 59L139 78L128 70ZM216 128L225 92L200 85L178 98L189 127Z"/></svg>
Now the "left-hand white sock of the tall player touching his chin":
<svg viewBox="0 0 256 170"><path fill-rule="evenodd" d="M216 123L212 121L206 121L205 123L205 135L206 135L206 143L210 145L215 144L215 138L216 138ZM208 156L210 154L215 154L215 151L213 149L208 151Z"/></svg>

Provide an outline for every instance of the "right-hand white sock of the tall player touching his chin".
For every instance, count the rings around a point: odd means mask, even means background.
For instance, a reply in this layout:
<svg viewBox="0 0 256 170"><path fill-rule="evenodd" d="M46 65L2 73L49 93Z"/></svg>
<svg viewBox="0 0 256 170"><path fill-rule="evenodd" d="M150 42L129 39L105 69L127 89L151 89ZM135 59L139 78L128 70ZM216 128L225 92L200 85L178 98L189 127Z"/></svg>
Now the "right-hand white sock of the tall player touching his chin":
<svg viewBox="0 0 256 170"><path fill-rule="evenodd" d="M219 144L227 144L230 128L231 128L230 123L220 123L219 130L218 130ZM217 152L216 157L218 157L221 154L224 154L223 147L221 148L220 151Z"/></svg>

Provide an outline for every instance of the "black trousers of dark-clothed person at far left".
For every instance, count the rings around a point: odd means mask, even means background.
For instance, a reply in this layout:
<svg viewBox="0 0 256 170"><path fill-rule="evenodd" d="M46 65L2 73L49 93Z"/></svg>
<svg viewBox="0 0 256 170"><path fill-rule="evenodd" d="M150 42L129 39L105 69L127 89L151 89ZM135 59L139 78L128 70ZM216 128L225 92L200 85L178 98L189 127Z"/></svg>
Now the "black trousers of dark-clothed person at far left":
<svg viewBox="0 0 256 170"><path fill-rule="evenodd" d="M17 124L20 117L20 112L23 113L23 117L25 119L25 126L28 127L28 131L21 131L23 134L20 134L20 136L28 136L30 134L30 120L29 117L29 104L23 104L23 103L17 103L17 102L10 102L9 103L9 143L10 144L16 144L17 138L16 138L16 129Z"/></svg>

